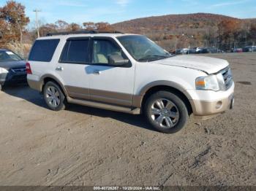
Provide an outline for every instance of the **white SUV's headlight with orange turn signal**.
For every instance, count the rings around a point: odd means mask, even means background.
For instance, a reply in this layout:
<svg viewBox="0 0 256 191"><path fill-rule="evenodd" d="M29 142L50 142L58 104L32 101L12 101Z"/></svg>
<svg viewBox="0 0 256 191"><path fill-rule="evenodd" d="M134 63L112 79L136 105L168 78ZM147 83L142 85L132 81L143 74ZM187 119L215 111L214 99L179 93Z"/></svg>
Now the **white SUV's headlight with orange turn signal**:
<svg viewBox="0 0 256 191"><path fill-rule="evenodd" d="M197 90L225 90L225 82L222 74L211 75L207 77L197 77L195 80Z"/></svg>

